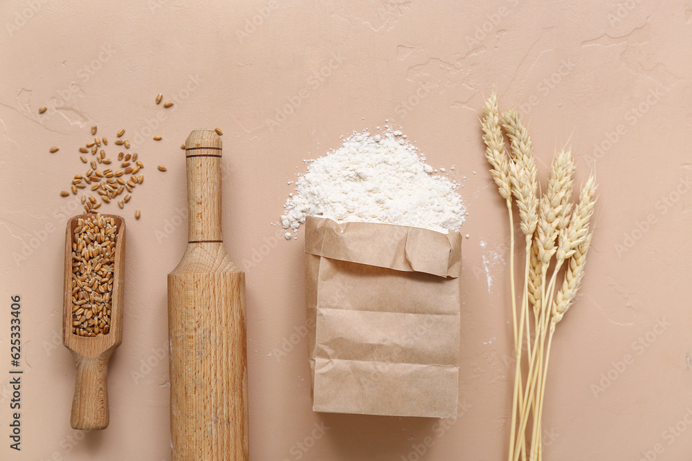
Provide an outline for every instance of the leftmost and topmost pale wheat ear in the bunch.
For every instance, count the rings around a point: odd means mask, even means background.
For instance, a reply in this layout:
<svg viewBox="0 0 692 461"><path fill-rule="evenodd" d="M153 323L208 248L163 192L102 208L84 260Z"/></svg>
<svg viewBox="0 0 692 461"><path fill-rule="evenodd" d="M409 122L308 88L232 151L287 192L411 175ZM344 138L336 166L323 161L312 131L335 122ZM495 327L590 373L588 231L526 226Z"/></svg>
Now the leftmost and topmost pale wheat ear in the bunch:
<svg viewBox="0 0 692 461"><path fill-rule="evenodd" d="M483 106L483 141L485 142L485 158L493 167L490 170L495 184L500 189L500 196L505 200L511 198L511 184L509 180L509 158L504 147L504 138L500 128L500 111L498 109L498 95L493 91Z"/></svg>

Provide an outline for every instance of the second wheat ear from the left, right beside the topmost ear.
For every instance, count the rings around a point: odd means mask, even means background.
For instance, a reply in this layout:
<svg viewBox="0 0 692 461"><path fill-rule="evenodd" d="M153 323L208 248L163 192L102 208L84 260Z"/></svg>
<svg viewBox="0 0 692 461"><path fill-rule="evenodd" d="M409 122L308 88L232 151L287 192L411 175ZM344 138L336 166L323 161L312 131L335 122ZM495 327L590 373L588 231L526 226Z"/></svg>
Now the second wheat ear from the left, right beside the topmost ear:
<svg viewBox="0 0 692 461"><path fill-rule="evenodd" d="M531 138L517 111L505 112L502 126L511 145L509 178L519 208L520 228L525 236L532 236L538 225L538 170Z"/></svg>

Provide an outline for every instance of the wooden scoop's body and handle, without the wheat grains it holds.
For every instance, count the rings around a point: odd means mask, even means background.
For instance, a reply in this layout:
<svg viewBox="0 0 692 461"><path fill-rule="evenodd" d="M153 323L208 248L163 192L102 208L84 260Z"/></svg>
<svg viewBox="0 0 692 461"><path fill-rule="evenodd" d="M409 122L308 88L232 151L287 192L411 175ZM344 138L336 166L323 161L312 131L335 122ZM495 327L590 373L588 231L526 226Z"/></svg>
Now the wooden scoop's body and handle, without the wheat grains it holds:
<svg viewBox="0 0 692 461"><path fill-rule="evenodd" d="M72 401L70 424L73 429L95 431L108 427L108 393L106 373L113 350L122 341L122 288L125 273L125 219L112 214L102 218L113 218L117 226L115 266L113 267L113 290L111 292L111 325L105 335L82 337L72 332L72 243L80 215L67 222L65 234L65 293L62 319L63 344L77 363L75 397Z"/></svg>

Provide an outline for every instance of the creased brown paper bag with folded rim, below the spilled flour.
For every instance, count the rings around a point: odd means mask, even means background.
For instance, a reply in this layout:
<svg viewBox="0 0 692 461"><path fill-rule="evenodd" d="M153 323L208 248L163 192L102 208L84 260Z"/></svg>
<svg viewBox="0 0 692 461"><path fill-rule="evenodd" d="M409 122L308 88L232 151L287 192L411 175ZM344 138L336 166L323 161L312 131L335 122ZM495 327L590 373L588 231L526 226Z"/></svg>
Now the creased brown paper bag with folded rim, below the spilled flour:
<svg viewBox="0 0 692 461"><path fill-rule="evenodd" d="M305 228L313 410L456 417L461 234Z"/></svg>

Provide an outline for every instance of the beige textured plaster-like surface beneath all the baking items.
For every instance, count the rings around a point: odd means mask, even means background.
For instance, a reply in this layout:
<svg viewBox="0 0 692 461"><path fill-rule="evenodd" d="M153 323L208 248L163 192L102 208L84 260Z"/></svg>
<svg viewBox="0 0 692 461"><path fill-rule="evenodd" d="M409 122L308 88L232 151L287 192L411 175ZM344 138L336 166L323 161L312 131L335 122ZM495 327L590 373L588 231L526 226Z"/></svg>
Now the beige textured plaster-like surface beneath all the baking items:
<svg viewBox="0 0 692 461"><path fill-rule="evenodd" d="M219 126L226 247L247 273L251 459L502 459L513 375L507 220L477 122L493 84L504 107L522 104L544 177L570 139L577 180L595 163L601 184L583 296L555 339L545 459L691 458L692 1L12 0L0 18L0 458L168 459L165 274L185 245L179 144ZM173 109L153 104L158 92ZM387 119L435 167L455 164L450 177L464 185L466 406L455 421L311 411L302 236L283 241L270 223L304 158ZM63 228L78 207L58 191L83 169L77 148L92 123L111 139L121 127L139 135L131 150L147 179L124 210L111 424L85 435L69 426L75 372L59 320ZM158 143L147 130L156 123ZM48 153L53 145L60 152ZM160 163L167 173L152 171ZM26 370L21 453L8 448L13 294Z"/></svg>

